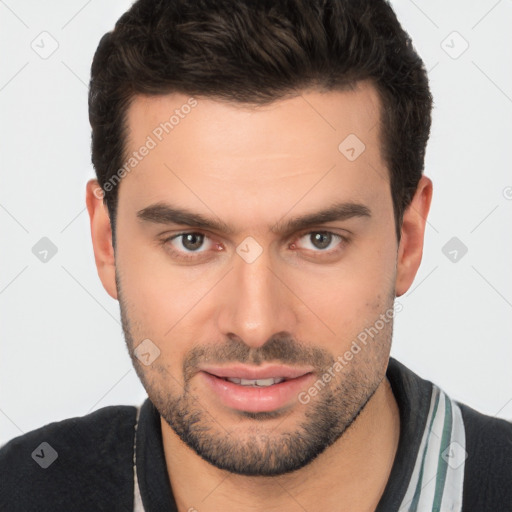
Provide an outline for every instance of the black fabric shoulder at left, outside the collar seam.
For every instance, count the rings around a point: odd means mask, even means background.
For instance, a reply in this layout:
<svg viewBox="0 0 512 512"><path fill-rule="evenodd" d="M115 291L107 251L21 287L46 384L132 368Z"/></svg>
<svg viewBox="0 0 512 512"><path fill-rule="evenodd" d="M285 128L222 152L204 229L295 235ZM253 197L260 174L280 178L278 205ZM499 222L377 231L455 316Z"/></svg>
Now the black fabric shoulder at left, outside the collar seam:
<svg viewBox="0 0 512 512"><path fill-rule="evenodd" d="M0 510L131 510L136 412L103 407L2 446Z"/></svg>

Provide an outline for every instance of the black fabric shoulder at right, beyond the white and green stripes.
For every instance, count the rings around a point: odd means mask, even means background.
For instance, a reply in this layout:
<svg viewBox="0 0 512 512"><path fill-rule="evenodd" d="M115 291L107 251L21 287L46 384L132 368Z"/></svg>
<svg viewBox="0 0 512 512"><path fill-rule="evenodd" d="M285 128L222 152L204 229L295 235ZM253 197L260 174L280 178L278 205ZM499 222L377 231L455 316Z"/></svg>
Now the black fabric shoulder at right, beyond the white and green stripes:
<svg viewBox="0 0 512 512"><path fill-rule="evenodd" d="M488 510L495 504L495 510L512 511L512 423L458 405L467 452L464 510Z"/></svg>

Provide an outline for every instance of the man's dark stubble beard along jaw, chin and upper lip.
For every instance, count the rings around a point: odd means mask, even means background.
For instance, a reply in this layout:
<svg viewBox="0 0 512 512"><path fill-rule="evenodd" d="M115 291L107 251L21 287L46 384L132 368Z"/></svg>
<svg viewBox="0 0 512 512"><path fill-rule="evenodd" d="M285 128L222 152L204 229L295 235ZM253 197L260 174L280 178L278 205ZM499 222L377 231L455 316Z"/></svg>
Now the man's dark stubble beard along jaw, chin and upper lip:
<svg viewBox="0 0 512 512"><path fill-rule="evenodd" d="M392 321L371 340L371 345L368 344L354 355L354 359L338 372L335 379L324 384L325 387L319 389L308 404L297 402L290 410L274 413L233 411L231 417L220 414L215 417L213 408L206 408L206 397L201 398L195 393L195 374L187 371L186 362L183 375L179 376L184 381L181 388L176 383L179 380L177 376L171 376L158 359L148 369L136 358L133 352L135 343L132 322L128 318L128 308L122 299L119 284L119 304L126 344L149 399L179 439L219 469L238 475L268 477L297 471L310 464L354 423L385 376ZM320 349L307 350L289 338L273 338L256 351L249 349L243 342L227 340L220 352L229 354L229 360L232 361L260 364L271 361L269 357L272 354L286 353L283 343L288 343L294 353L291 362L311 364L314 360L314 366L318 368L317 379L321 379L329 368L332 375L335 359L331 354ZM210 353L210 349L203 348L189 354L186 358L188 363L201 359L202 355ZM219 356L218 349L213 353ZM221 360L226 361L228 358ZM277 362L290 363L290 358L279 358ZM173 389L180 389L182 393L171 391ZM238 419L238 423L233 428L235 419ZM237 428L241 422L244 427ZM250 425L245 427L248 422ZM284 430L287 424L295 426Z"/></svg>

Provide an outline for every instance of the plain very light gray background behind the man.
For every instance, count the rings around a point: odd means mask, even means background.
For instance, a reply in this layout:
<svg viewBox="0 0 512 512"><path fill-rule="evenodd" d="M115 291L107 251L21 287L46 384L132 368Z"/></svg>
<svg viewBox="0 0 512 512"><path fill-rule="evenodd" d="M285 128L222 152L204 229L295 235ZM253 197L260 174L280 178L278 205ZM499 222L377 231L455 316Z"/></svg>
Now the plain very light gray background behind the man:
<svg viewBox="0 0 512 512"><path fill-rule="evenodd" d="M90 64L130 4L0 0L0 444L146 396L96 274L84 202ZM392 4L435 99L434 200L392 355L512 419L512 1ZM455 262L442 250L454 236L468 248ZM46 263L32 253L42 237L58 249Z"/></svg>

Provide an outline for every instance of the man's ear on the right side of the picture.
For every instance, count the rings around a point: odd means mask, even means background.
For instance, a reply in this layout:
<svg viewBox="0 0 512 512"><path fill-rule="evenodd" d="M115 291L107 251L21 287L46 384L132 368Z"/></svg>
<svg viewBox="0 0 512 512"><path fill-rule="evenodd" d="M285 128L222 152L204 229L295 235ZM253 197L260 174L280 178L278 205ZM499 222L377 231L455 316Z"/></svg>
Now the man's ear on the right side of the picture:
<svg viewBox="0 0 512 512"><path fill-rule="evenodd" d="M426 176L422 176L411 204L404 212L395 282L397 297L403 295L410 288L420 266L431 201L432 181Z"/></svg>

